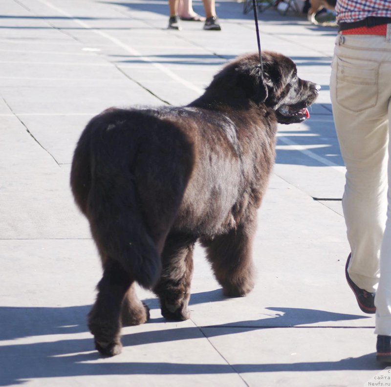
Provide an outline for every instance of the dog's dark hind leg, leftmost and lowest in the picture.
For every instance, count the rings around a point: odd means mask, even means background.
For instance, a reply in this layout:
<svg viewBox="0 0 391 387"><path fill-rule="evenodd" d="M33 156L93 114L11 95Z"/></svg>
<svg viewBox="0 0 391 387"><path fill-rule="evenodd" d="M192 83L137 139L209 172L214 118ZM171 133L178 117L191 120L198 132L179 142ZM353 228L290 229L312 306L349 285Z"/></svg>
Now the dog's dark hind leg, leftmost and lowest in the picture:
<svg viewBox="0 0 391 387"><path fill-rule="evenodd" d="M103 277L98 283L98 296L88 314L88 328L94 335L95 347L103 355L121 352L121 309L133 280L115 260L107 258Z"/></svg>

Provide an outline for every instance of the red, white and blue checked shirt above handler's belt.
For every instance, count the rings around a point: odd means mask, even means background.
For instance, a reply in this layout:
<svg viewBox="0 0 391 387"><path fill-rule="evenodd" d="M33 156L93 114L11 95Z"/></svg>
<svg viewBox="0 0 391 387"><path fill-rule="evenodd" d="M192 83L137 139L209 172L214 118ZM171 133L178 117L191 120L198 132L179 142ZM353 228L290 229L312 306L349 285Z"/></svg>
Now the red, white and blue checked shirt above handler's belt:
<svg viewBox="0 0 391 387"><path fill-rule="evenodd" d="M391 0L337 0L337 21L351 23L368 16L391 18Z"/></svg>

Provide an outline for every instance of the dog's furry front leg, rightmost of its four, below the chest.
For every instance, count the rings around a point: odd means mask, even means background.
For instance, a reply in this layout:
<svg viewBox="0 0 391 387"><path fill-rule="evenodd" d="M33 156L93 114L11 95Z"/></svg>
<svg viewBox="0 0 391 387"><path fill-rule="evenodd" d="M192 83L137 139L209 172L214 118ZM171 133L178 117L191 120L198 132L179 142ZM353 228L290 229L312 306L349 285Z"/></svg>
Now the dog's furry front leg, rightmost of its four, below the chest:
<svg viewBox="0 0 391 387"><path fill-rule="evenodd" d="M244 296L254 287L252 241L255 230L254 214L229 233L216 236L213 240L202 240L225 296Z"/></svg>

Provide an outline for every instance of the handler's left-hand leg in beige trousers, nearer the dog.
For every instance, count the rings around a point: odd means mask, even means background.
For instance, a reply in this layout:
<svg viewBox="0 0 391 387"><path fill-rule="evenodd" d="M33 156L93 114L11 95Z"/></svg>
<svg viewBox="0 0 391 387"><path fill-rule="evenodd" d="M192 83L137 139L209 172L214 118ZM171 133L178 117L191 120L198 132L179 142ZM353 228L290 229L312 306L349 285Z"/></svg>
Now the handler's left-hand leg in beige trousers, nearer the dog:
<svg viewBox="0 0 391 387"><path fill-rule="evenodd" d="M344 42L341 39L339 42ZM338 43L330 80L331 100L338 140L346 167L343 210L351 259L348 274L368 292L379 279L380 246L387 208L387 110L381 91L376 51L366 55ZM368 43L370 47L370 41ZM382 52L382 54L384 54ZM364 60L362 58L365 58ZM364 97L365 96L365 97Z"/></svg>

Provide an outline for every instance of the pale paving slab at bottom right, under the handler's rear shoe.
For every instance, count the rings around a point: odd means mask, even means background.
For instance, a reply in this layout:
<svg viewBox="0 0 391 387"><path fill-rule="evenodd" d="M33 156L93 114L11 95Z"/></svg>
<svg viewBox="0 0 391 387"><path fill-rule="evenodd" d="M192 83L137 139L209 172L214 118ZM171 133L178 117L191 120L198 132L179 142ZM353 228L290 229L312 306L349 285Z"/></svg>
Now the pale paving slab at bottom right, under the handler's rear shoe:
<svg viewBox="0 0 391 387"><path fill-rule="evenodd" d="M347 337L345 329L280 328L273 338L270 329L202 331L249 386L364 386L379 372L374 354L363 355L370 329Z"/></svg>

